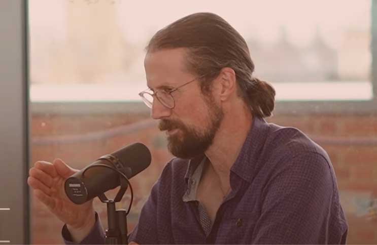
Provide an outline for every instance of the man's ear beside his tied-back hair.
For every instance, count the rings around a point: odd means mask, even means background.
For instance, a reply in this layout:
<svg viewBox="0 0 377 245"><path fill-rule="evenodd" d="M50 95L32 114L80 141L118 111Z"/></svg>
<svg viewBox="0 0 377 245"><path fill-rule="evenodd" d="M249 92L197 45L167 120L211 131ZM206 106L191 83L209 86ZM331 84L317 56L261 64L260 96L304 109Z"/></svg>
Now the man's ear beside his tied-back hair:
<svg viewBox="0 0 377 245"><path fill-rule="evenodd" d="M226 101L235 94L237 82L232 68L222 68L216 80L216 91L221 101Z"/></svg>

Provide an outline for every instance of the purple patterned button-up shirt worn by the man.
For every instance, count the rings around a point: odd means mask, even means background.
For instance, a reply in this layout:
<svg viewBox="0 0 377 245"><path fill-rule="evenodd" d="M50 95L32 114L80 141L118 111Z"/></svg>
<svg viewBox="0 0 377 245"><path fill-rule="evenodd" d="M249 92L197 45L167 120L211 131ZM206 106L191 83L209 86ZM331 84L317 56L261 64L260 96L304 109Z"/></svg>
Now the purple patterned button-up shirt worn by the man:
<svg viewBox="0 0 377 245"><path fill-rule="evenodd" d="M168 162L129 241L346 243L348 225L329 156L299 130L267 124L254 117L252 129L230 171L232 190L208 232L200 223L198 201L182 199L192 189L192 175L203 157L174 158ZM70 243L65 226L63 237ZM104 241L97 219L81 243Z"/></svg>

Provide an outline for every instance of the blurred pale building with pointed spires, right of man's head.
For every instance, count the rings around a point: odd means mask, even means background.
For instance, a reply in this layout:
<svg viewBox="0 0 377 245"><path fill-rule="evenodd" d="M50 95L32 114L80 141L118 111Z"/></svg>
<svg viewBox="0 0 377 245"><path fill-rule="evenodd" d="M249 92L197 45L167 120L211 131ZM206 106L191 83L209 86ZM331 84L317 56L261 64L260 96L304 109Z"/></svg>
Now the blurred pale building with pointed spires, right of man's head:
<svg viewBox="0 0 377 245"><path fill-rule="evenodd" d="M248 43L256 74L264 80L277 83L338 79L336 50L326 44L319 29L304 48L291 43L283 27L275 44L263 45L257 40Z"/></svg>

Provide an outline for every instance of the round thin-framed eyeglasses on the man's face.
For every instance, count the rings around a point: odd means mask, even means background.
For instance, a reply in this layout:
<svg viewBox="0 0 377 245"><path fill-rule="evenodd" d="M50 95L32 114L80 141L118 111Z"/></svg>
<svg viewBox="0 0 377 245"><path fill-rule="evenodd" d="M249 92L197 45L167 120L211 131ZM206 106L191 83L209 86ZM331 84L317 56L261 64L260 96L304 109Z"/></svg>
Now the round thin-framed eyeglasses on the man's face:
<svg viewBox="0 0 377 245"><path fill-rule="evenodd" d="M139 95L140 97L142 97L144 103L149 107L149 108L152 108L152 105L153 105L153 98L156 97L158 99L158 101L165 107L169 108L169 109L173 109L175 106L176 106L176 103L174 101L174 97L172 95L173 92L177 91L178 89L182 88L183 86L185 85L188 85L190 83L192 83L193 81L195 81L196 79L199 79L201 77L203 77L204 75L201 75L201 76L198 76L198 77L195 77L194 79L188 81L187 83L175 88L175 89L172 89L172 90L169 90L169 91L166 91L166 90L159 90L159 91L156 91L154 92L153 94L148 92L148 90L145 90L143 92L140 92Z"/></svg>

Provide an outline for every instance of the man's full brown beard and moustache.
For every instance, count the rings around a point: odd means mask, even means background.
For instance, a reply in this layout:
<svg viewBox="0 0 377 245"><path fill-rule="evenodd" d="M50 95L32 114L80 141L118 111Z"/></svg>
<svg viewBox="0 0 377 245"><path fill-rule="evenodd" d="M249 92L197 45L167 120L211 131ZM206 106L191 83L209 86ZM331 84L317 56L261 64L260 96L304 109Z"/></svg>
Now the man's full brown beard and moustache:
<svg viewBox="0 0 377 245"><path fill-rule="evenodd" d="M179 129L180 132L167 137L167 148L180 158L192 158L203 154L211 145L224 117L222 109L212 99L205 101L208 106L208 128L199 131L179 120L162 119L158 125L161 131Z"/></svg>

